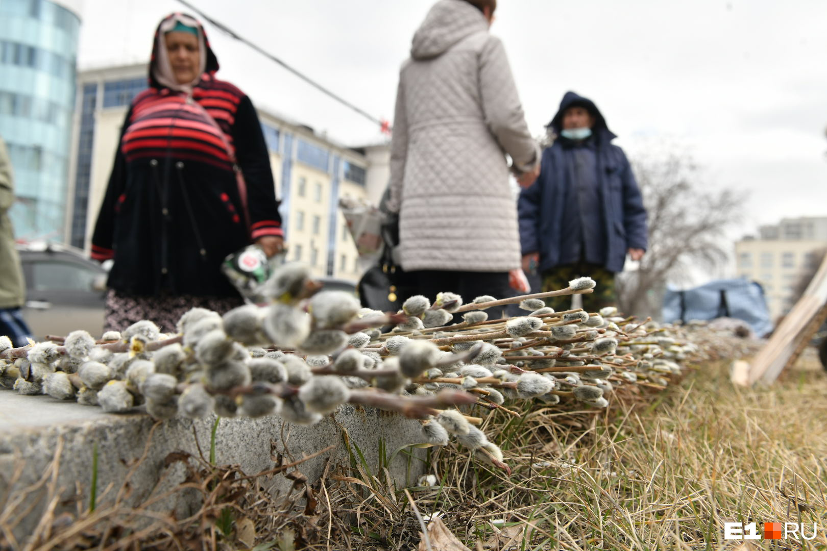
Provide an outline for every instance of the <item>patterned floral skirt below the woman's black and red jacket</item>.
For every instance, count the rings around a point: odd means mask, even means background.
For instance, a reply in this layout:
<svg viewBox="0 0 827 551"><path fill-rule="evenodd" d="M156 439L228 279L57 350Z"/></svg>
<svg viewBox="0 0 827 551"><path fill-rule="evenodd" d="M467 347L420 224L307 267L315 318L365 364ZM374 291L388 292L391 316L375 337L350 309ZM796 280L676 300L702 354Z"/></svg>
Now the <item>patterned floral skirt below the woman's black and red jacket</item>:
<svg viewBox="0 0 827 551"><path fill-rule="evenodd" d="M136 321L154 321L167 334L178 332L175 325L190 308L199 307L224 314L242 306L241 297L196 297L194 295L169 295L141 297L110 289L106 297L106 323L104 330L122 331Z"/></svg>

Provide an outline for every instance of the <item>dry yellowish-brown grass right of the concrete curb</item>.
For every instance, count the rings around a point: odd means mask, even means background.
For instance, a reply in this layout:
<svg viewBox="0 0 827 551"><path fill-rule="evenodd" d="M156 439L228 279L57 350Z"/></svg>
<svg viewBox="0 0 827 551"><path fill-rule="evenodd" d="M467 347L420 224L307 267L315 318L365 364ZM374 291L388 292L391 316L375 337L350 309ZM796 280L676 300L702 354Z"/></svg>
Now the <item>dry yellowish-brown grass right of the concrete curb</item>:
<svg viewBox="0 0 827 551"><path fill-rule="evenodd" d="M827 549L825 420L827 377L811 354L769 388L732 387L727 365L712 363L597 414L495 413L483 428L514 473L439 450L442 484L413 495L471 549L734 549L723 530L736 521L803 522L808 536L817 523L814 540L772 549ZM399 490L398 510L379 494L351 500L372 519L353 549L413 549Z"/></svg>

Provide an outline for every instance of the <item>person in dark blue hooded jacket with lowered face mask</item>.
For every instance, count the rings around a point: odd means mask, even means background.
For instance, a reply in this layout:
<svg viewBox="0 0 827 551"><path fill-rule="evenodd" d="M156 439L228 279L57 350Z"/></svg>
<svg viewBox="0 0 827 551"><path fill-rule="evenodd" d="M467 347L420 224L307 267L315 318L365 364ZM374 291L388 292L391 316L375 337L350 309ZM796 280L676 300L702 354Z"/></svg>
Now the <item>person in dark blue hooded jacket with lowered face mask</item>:
<svg viewBox="0 0 827 551"><path fill-rule="evenodd" d="M626 254L640 260L647 249L638 183L595 102L566 92L548 127L557 139L543 151L539 178L519 196L523 269L539 268L543 291L590 276L597 287L583 295L584 309L614 306L614 274L623 271ZM569 297L547 300L557 311L568 303Z"/></svg>

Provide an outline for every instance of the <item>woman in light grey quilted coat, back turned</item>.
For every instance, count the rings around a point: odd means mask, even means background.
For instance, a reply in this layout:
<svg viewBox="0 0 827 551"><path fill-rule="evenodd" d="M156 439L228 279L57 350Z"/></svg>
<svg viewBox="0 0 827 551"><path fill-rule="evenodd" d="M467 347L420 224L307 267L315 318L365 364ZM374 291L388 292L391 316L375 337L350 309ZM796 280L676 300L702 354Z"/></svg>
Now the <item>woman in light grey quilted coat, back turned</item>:
<svg viewBox="0 0 827 551"><path fill-rule="evenodd" d="M418 292L509 295L520 267L509 166L521 186L540 159L500 39L496 0L439 0L399 74L391 141L391 211L399 259ZM490 315L494 312L490 312Z"/></svg>

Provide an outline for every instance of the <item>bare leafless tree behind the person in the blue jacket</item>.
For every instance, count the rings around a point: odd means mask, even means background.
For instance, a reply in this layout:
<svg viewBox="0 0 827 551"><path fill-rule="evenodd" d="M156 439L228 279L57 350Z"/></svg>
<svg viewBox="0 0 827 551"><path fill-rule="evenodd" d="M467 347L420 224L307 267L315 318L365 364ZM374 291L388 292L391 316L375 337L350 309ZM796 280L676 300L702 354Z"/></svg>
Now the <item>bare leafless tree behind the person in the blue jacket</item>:
<svg viewBox="0 0 827 551"><path fill-rule="evenodd" d="M689 155L674 150L633 159L632 168L648 211L649 248L636 271L617 278L619 306L657 317L667 280L686 281L690 268L714 268L729 257L725 231L738 220L743 197L702 188Z"/></svg>

